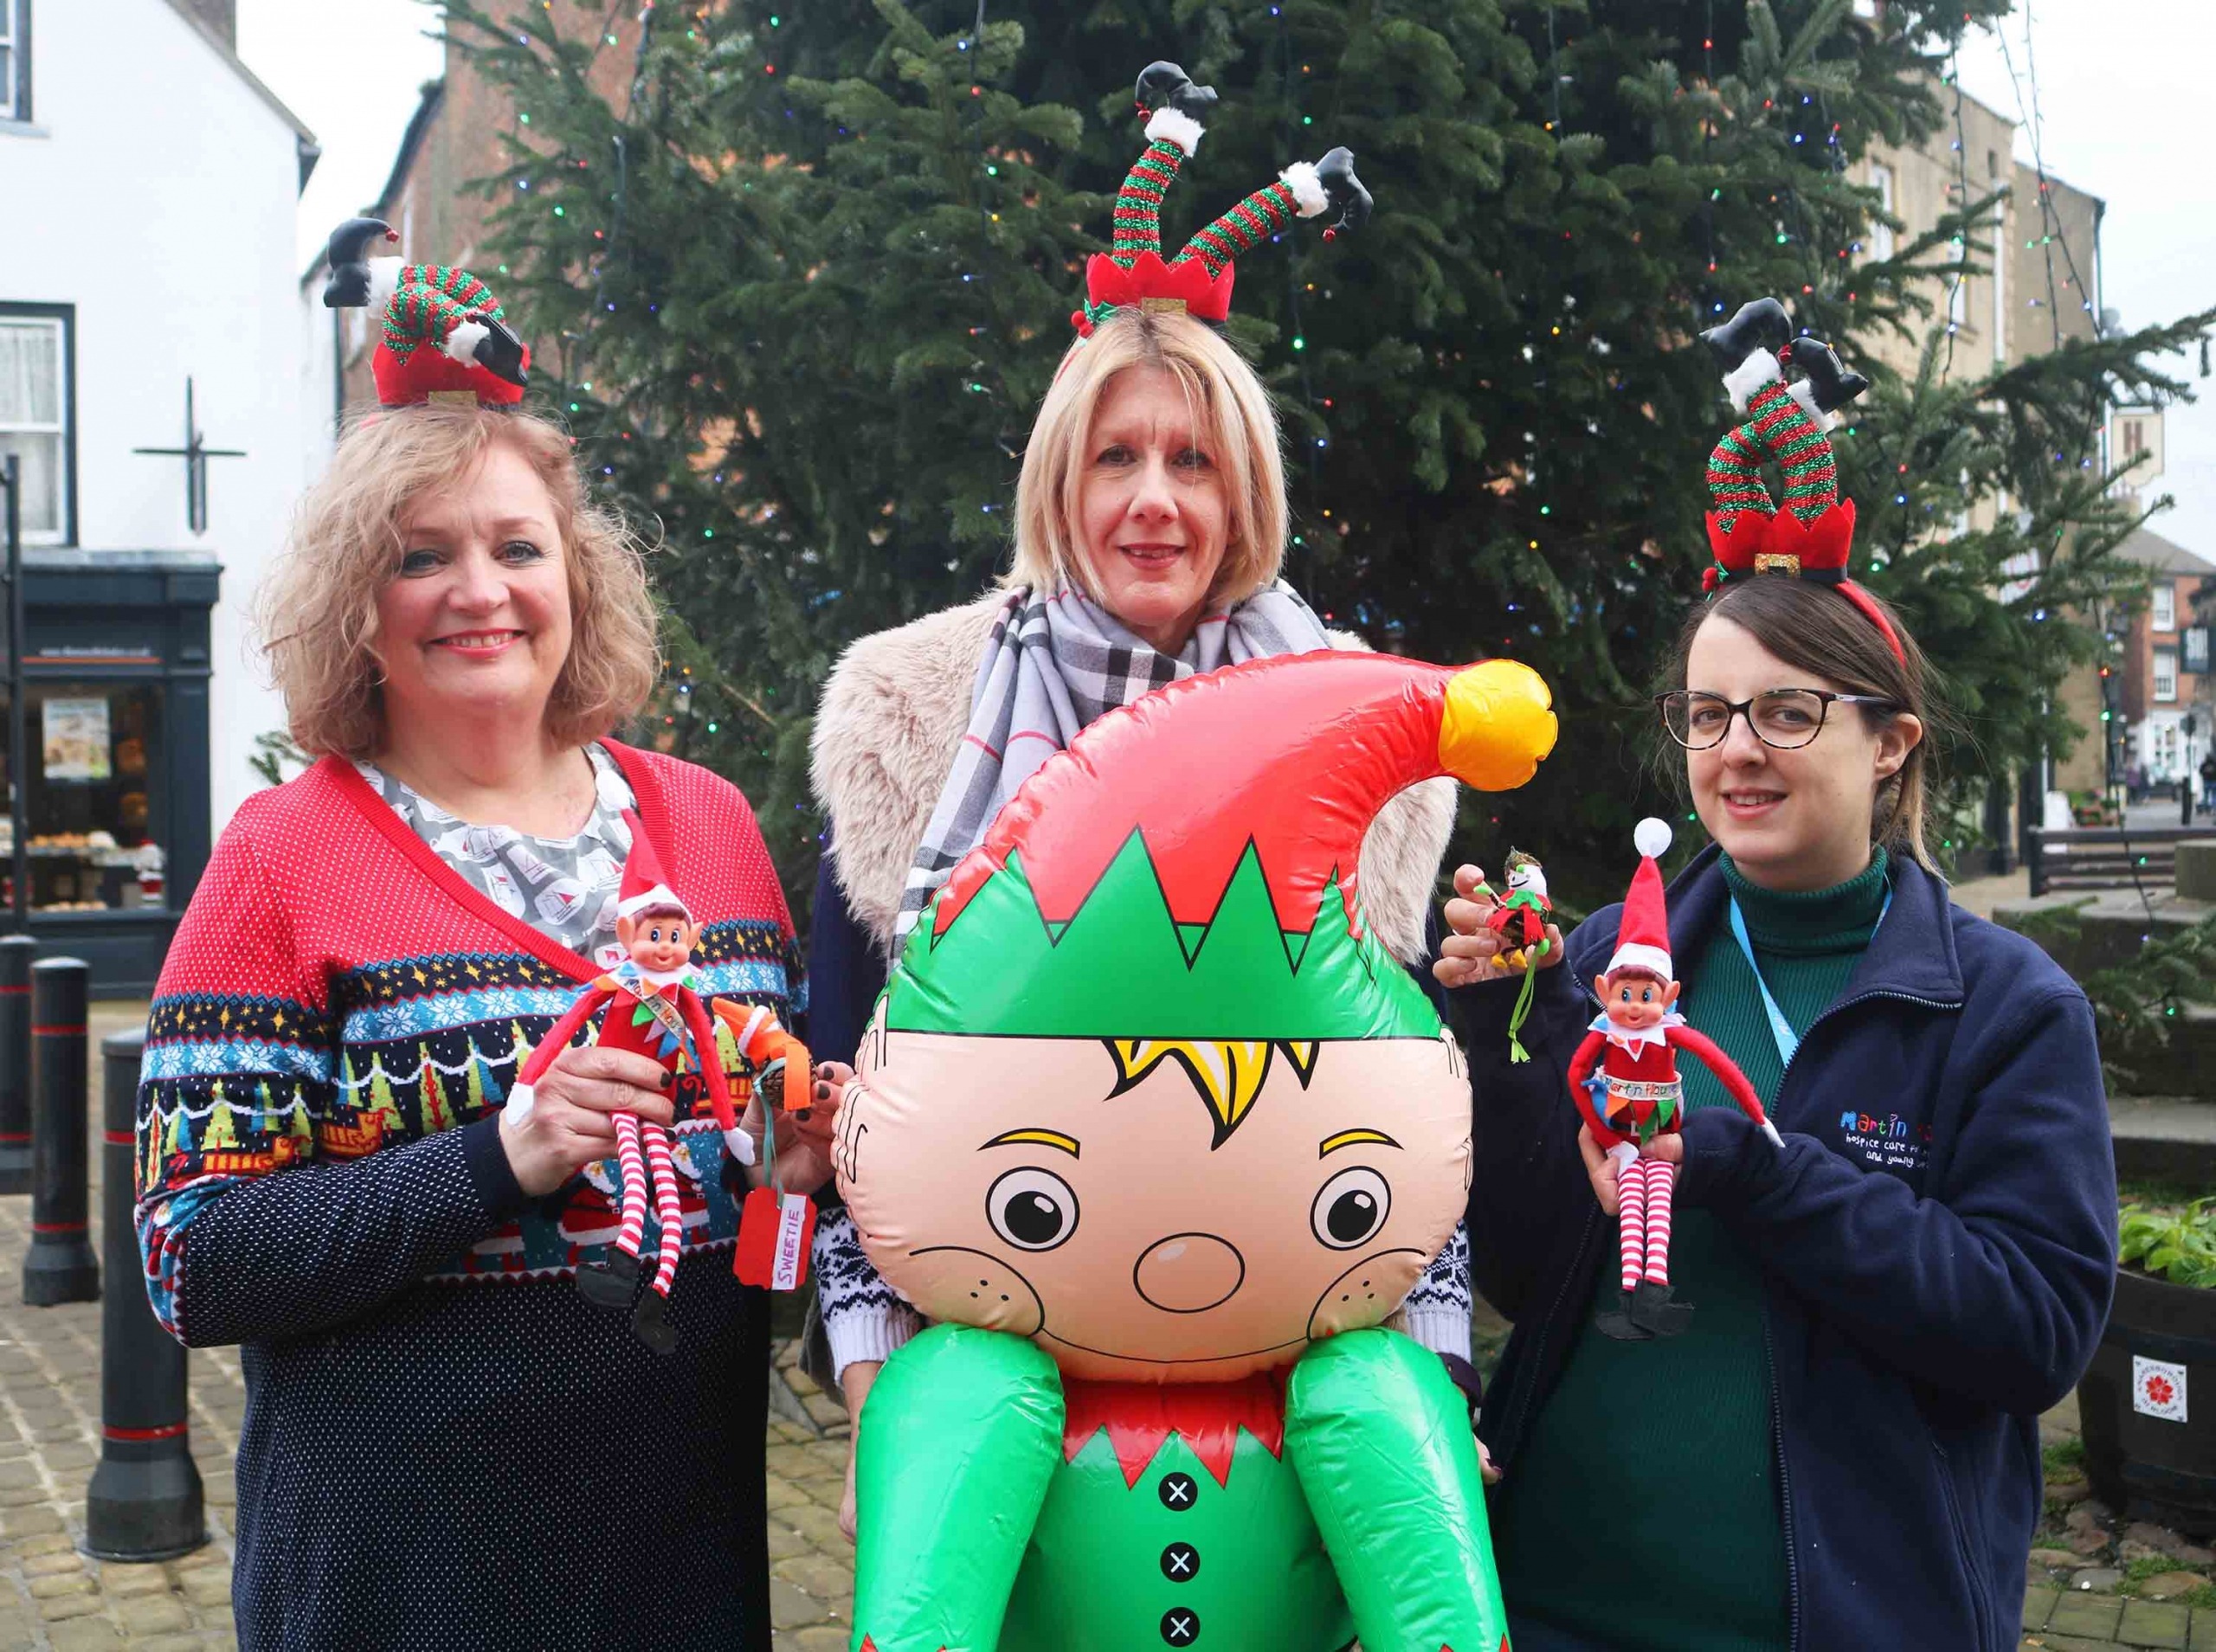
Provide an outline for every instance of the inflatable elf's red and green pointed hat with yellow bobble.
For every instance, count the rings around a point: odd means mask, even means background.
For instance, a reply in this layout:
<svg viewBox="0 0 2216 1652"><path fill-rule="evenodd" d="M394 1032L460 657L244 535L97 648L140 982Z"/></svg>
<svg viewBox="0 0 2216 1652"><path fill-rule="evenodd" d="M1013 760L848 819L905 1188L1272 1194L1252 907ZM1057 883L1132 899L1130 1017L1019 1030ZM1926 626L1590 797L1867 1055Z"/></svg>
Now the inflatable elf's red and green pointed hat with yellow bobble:
<svg viewBox="0 0 2216 1652"><path fill-rule="evenodd" d="M1316 651L1174 682L1008 799L911 932L884 1025L1223 1061L1225 1041L1436 1036L1363 928L1363 835L1423 779L1520 786L1553 740L1547 684L1511 660Z"/></svg>

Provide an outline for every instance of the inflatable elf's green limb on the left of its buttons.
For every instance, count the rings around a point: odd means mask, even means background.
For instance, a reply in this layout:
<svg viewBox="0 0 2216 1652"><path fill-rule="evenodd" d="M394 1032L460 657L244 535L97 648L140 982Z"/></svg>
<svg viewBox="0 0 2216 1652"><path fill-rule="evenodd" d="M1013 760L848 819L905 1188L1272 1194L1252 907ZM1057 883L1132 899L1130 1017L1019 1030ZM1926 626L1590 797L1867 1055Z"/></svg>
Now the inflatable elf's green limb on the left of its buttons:
<svg viewBox="0 0 2216 1652"><path fill-rule="evenodd" d="M937 1324L884 1362L855 1459L855 1652L993 1652L1061 1464L1061 1373Z"/></svg>

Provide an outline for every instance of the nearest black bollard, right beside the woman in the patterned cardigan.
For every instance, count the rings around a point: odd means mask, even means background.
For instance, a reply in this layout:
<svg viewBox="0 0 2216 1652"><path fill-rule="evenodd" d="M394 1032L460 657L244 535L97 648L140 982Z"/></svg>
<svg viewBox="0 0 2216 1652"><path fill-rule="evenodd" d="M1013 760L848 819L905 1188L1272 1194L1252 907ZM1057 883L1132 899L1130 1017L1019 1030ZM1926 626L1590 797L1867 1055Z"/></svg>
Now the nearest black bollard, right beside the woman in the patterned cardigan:
<svg viewBox="0 0 2216 1652"><path fill-rule="evenodd" d="M131 1207L144 1054L146 1028L100 1041L109 1293L100 1304L100 1468L84 1493L84 1552L102 1561L166 1561L208 1541L184 1411L184 1349L155 1322L146 1291L131 1289L142 1278Z"/></svg>

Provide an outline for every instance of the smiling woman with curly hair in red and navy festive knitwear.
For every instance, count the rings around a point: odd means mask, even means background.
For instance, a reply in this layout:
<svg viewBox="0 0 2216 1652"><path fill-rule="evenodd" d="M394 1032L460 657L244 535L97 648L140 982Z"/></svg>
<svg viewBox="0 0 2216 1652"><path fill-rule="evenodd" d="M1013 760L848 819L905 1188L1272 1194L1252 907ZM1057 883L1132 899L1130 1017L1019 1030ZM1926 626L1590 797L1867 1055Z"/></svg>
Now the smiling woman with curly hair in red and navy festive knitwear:
<svg viewBox="0 0 2216 1652"><path fill-rule="evenodd" d="M155 1309L246 1369L239 1643L767 1650L767 1315L700 1078L572 1047L503 1107L609 963L632 822L705 994L782 1016L798 981L747 799L609 737L658 675L638 547L558 427L399 407L308 492L261 624L315 764L224 830L140 1090ZM620 1109L676 1132L667 1357L576 1289Z"/></svg>

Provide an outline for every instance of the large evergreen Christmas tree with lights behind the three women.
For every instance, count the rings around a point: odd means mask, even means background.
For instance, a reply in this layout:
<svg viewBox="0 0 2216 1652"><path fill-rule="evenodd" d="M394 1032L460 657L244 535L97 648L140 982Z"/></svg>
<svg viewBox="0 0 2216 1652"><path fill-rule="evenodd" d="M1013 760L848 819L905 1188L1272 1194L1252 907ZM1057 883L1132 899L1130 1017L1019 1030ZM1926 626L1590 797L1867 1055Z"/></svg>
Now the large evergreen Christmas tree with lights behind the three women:
<svg viewBox="0 0 2216 1652"><path fill-rule="evenodd" d="M1573 906L1620 884L1655 804L1593 773L1640 771L1631 711L1700 591L1726 423L1702 326L1777 295L1879 379L1839 438L1855 574L1974 720L1968 806L2074 733L2052 689L2099 644L2074 616L2127 580L2096 432L2118 401L2178 394L2150 361L2212 319L1983 383L1857 357L1886 330L1937 343L1928 277L1974 268L1992 202L1875 259L1848 162L1939 131L1950 42L2008 0L1877 20L1848 0L1033 0L982 33L960 4L749 0L645 13L614 97L601 9L494 11L448 7L516 109L488 182L503 295L578 454L660 523L676 664L652 733L738 779L796 904L815 691L840 647L1004 565L1150 58L1221 93L1172 244L1292 159L1358 157L1361 235L1303 224L1239 270L1230 332L1292 450L1287 576L1381 647L1547 673L1580 762L1465 826L1494 859L1545 844ZM1966 481L2010 512L1935 545Z"/></svg>

